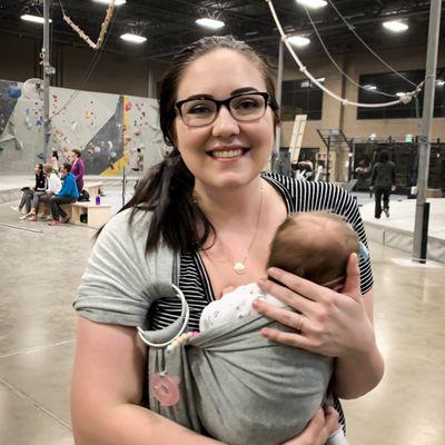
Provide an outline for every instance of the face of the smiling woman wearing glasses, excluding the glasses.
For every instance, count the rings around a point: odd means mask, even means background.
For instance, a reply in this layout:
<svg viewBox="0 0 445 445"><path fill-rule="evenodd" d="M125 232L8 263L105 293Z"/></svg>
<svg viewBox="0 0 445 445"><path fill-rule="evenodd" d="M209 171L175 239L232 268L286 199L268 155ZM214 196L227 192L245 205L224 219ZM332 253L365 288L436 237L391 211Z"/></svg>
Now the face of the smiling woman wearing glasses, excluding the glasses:
<svg viewBox="0 0 445 445"><path fill-rule="evenodd" d="M178 85L177 100L195 95L222 100L255 90L266 91L266 82L255 65L234 50L218 49L187 67ZM177 116L175 135L197 187L240 187L258 177L270 155L273 111L267 107L263 118L240 122L222 106L215 122L205 127L188 127Z"/></svg>

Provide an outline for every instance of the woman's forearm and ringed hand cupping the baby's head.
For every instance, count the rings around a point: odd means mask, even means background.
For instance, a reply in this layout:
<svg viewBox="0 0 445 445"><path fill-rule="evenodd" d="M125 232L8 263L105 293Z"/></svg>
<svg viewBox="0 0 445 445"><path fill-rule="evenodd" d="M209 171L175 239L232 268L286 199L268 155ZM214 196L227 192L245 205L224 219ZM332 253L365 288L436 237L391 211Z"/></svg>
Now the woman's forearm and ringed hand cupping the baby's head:
<svg viewBox="0 0 445 445"><path fill-rule="evenodd" d="M267 338L329 357L337 357L334 393L340 398L356 398L377 386L384 362L377 348L373 325L373 294L360 294L357 255L352 254L347 278L338 294L296 275L273 268L270 280L259 287L298 313L254 301L254 308L295 329L284 333L263 329Z"/></svg>

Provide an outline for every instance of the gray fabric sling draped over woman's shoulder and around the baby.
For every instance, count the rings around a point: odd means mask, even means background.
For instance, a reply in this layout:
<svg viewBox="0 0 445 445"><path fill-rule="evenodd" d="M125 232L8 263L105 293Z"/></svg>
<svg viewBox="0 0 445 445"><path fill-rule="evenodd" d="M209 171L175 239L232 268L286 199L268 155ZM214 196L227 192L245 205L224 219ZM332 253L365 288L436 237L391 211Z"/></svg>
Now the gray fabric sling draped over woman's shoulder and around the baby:
<svg viewBox="0 0 445 445"><path fill-rule="evenodd" d="M146 256L149 214L138 214L131 230L128 218L129 210L118 214L100 234L75 308L93 322L147 327L150 305L176 295L179 261L164 247ZM149 348L148 378L166 366L180 378L180 399L162 407L149 394L148 407L230 445L276 445L296 436L324 398L333 360L270 343L259 334L265 326L285 330L254 316L209 329L172 353Z"/></svg>

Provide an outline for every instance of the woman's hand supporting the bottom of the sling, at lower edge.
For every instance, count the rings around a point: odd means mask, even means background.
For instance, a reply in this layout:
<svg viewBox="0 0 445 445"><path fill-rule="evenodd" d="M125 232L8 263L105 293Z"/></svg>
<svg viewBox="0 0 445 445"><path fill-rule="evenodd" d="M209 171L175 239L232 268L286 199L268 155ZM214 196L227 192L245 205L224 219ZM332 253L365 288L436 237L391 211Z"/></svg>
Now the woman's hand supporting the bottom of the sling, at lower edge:
<svg viewBox="0 0 445 445"><path fill-rule="evenodd" d="M338 427L338 413L332 406L325 411L318 408L305 431L283 445L325 445L329 435Z"/></svg>

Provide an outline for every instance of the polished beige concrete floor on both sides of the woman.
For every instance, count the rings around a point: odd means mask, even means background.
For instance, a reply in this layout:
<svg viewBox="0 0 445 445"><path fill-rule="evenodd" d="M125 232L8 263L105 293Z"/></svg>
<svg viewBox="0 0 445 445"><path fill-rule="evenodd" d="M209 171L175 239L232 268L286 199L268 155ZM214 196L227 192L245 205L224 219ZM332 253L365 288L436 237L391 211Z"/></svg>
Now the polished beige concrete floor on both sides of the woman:
<svg viewBox="0 0 445 445"><path fill-rule="evenodd" d="M116 204L119 190L107 189L106 199ZM0 205L0 444L73 444L71 303L93 230L18 221L10 205ZM397 266L392 259L407 254L370 247L386 375L369 395L344 403L349 443L443 445L445 268Z"/></svg>

